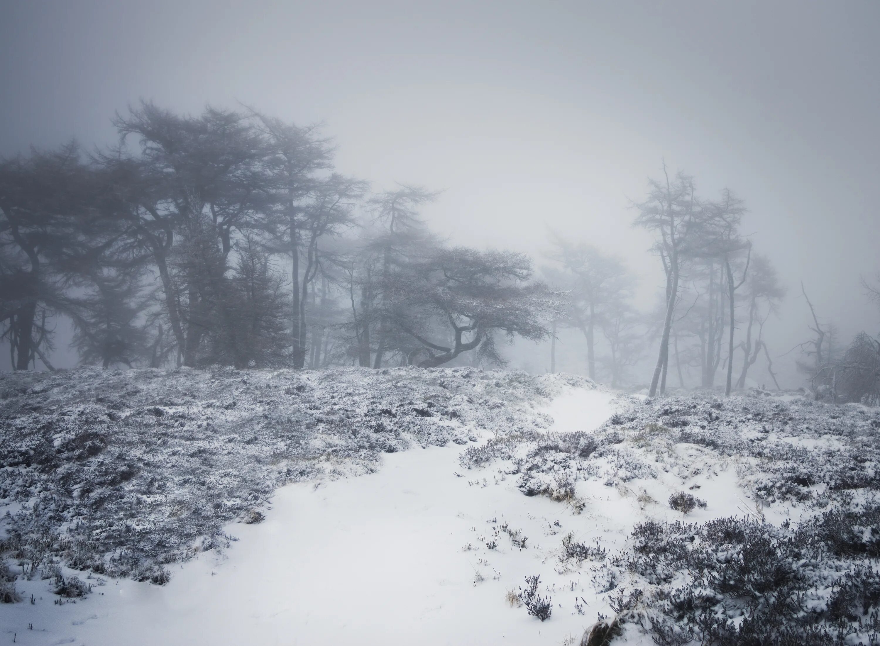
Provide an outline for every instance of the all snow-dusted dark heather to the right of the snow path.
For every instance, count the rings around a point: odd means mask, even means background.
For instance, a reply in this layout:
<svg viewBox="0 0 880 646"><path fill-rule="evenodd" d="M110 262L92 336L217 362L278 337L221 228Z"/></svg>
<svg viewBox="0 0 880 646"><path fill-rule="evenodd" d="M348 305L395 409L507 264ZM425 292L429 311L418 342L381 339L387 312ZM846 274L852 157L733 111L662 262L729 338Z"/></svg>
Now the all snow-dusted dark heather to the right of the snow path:
<svg viewBox="0 0 880 646"><path fill-rule="evenodd" d="M563 537L561 560L595 563L593 584L618 613L618 635L628 622L659 644L878 642L876 408L760 392L647 400L591 434L511 435L461 456L466 467L495 460L519 474L527 495L578 480L634 491L661 472L687 489L696 474L736 470L752 500L742 518L642 523L610 557ZM705 504L687 491L669 501L684 513ZM767 523L762 510L780 505L802 520Z"/></svg>

